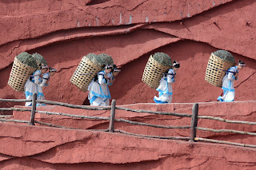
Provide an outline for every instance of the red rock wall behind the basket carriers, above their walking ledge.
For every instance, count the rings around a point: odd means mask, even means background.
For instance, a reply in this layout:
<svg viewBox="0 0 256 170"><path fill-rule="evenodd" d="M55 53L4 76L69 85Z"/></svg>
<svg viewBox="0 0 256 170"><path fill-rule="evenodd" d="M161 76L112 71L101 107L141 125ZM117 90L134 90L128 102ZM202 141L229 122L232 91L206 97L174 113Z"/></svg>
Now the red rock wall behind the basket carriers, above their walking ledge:
<svg viewBox="0 0 256 170"><path fill-rule="evenodd" d="M226 49L246 62L235 100L255 100L255 8L254 0L1 1L0 97L24 98L7 81L15 55L27 51L58 69L46 99L88 105L70 77L87 53L108 53L122 66L110 87L118 105L151 103L156 91L141 78L159 51L182 65L173 102L216 101L222 89L204 81L206 64L211 52Z"/></svg>

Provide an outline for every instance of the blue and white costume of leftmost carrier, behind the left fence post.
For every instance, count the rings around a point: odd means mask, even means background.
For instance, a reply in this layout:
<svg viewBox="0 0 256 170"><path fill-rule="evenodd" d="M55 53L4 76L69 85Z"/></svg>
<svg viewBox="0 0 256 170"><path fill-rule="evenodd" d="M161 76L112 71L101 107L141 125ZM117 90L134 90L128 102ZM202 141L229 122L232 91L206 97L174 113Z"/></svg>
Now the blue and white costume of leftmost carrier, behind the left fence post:
<svg viewBox="0 0 256 170"><path fill-rule="evenodd" d="M32 76L26 81L24 91L26 99L32 100L33 93L38 94L38 84L41 81L41 70L37 70L33 73ZM32 102L26 102L26 106L31 106Z"/></svg>

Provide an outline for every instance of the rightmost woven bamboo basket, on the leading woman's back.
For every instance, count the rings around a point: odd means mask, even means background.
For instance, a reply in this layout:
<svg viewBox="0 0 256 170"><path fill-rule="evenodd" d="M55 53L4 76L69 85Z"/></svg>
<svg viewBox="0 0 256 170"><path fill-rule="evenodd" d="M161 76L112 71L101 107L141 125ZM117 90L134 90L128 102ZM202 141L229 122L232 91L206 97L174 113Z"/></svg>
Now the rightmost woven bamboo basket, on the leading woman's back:
<svg viewBox="0 0 256 170"><path fill-rule="evenodd" d="M226 70L234 65L234 62L223 60L222 58L215 56L214 53L211 53L206 68L205 80L212 85L222 87L222 79L226 74Z"/></svg>

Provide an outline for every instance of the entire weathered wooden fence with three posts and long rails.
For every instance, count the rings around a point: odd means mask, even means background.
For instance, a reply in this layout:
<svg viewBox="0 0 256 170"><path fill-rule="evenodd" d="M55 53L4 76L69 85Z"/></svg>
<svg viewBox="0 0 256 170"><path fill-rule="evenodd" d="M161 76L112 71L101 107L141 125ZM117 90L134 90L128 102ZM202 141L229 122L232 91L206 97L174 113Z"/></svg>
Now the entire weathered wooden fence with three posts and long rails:
<svg viewBox="0 0 256 170"><path fill-rule="evenodd" d="M61 115L66 117L78 117L82 119L93 119L93 120L103 120L103 121L110 121L110 125L108 129L90 129L93 131L102 131L102 132L120 132L126 135L132 135L132 136L142 136L142 137L150 137L150 138L158 138L158 139L170 139L170 140L189 140L190 142L196 142L196 141L206 141L206 142L213 142L218 144L233 144L238 146L244 146L244 147L252 147L256 148L256 145L254 144L239 144L224 140L212 140L212 139L206 139L197 137L197 130L202 131L210 131L210 132L233 132L238 134L244 134L244 135L251 135L256 136L255 132L244 132L244 131L238 131L233 129L213 129L213 128L202 128L198 127L198 119L208 119L208 120L214 120L214 121L222 121L226 123L232 123L232 124L243 124L243 125L256 125L256 122L250 122L250 121L230 121L226 119L222 119L220 117L211 117L211 116L198 116L198 103L194 103L192 108L192 115L186 114L186 113L169 113L169 112L154 112L150 110L143 110L143 109L129 109L125 107L119 107L116 106L116 101L112 100L111 106L105 106L105 107L94 107L94 106L86 106L86 105L71 105L67 103L57 102L57 101L46 101L46 100L37 100L37 95L34 94L32 100L26 100L26 99L0 99L0 101L11 101L11 102L31 102L32 101L32 107L31 109L20 109L20 108L0 108L0 111L30 111L30 121L21 121L21 120L11 120L11 119L5 119L4 117L0 117L0 121L12 121L12 122L18 122L18 123L27 123L28 125L34 125L34 123L38 123L41 125L47 125L51 127L56 128L67 128L61 125L52 125L49 123L44 123L41 121L35 121L34 116L35 113L42 113L47 115ZM49 105L61 105L69 108L74 109L89 109L89 110L110 110L110 117L90 117L90 116L81 116L81 115L74 115L74 114L68 114L68 113L54 113L54 112L47 112L47 111L38 111L36 110L36 104L49 104ZM115 110L125 110L127 112L134 112L134 113L151 113L156 115L170 115L175 117L191 117L191 123L190 125L185 126L167 126L167 125L151 125L136 121L128 121L124 119L115 119ZM114 129L114 122L120 121L120 122L126 122L131 125L144 125L144 126L150 126L154 128L179 128L179 129L185 129L190 128L190 136L189 137L182 137L182 136L147 136L147 135L141 135L141 134L135 134L130 132L125 132L122 130ZM70 129L77 129L77 128L70 128Z"/></svg>

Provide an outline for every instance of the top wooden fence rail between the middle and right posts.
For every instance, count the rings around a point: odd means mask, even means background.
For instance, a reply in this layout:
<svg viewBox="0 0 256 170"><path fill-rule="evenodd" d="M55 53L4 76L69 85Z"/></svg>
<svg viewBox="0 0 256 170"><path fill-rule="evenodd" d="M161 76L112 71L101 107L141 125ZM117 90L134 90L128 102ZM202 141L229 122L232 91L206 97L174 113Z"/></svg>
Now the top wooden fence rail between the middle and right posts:
<svg viewBox="0 0 256 170"><path fill-rule="evenodd" d="M167 112L155 112L150 110L142 110L142 109L130 109L130 108L124 108L124 107L116 107L115 109L119 110L126 110L134 113L153 113L158 115L170 115L170 116L176 116L176 117L192 117L190 114L186 113L167 113Z"/></svg>

